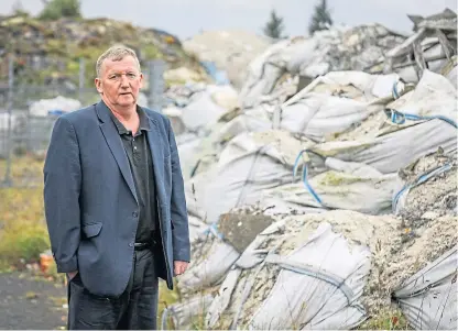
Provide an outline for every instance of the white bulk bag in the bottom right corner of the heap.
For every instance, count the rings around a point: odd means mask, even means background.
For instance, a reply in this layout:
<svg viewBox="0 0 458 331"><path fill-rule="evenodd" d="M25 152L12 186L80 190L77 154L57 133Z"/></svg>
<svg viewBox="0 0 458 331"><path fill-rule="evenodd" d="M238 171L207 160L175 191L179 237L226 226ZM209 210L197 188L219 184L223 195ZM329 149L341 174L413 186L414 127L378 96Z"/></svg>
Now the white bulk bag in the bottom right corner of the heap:
<svg viewBox="0 0 458 331"><path fill-rule="evenodd" d="M455 245L393 291L416 330L458 330L457 254Z"/></svg>

